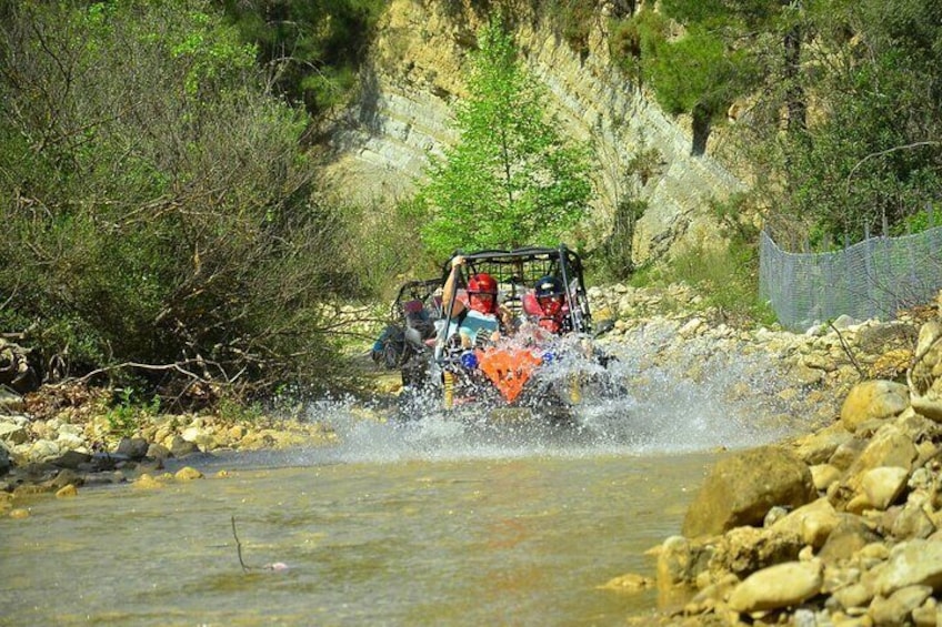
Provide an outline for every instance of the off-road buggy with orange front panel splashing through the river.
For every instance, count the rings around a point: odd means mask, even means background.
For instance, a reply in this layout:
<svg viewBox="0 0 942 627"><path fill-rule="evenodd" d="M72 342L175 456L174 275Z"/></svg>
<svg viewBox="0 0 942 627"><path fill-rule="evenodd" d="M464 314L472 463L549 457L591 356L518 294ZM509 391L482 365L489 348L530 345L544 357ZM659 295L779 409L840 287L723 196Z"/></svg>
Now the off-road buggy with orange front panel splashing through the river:
<svg viewBox="0 0 942 627"><path fill-rule="evenodd" d="M401 323L390 332L400 338L394 343L403 383L400 414L414 418L443 411L477 418L569 419L569 409L582 400L585 385L599 380L607 362L591 341L595 330L580 256L564 245L461 256L465 263L457 271L454 294L442 293L450 259L440 279L403 285L393 304L401 315ZM469 277L479 273L497 281L498 302L513 322L501 330L497 342L479 335L469 347L454 333L457 318L449 310L465 296ZM538 282L547 277L561 286L565 303L558 333L537 324L540 312L534 293ZM442 302L450 306L442 307Z"/></svg>

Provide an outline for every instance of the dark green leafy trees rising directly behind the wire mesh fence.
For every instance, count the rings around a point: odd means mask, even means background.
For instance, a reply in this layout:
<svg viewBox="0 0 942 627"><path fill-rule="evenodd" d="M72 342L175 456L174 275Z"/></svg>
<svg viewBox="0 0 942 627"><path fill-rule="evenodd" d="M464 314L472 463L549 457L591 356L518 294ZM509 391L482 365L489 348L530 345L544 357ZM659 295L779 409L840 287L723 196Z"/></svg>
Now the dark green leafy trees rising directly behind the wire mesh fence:
<svg viewBox="0 0 942 627"><path fill-rule="evenodd" d="M884 221L905 231L942 194L942 6L824 4L815 19L843 26L820 29L832 71L811 74L826 115L784 138L776 199L778 219L815 247L880 234Z"/></svg>

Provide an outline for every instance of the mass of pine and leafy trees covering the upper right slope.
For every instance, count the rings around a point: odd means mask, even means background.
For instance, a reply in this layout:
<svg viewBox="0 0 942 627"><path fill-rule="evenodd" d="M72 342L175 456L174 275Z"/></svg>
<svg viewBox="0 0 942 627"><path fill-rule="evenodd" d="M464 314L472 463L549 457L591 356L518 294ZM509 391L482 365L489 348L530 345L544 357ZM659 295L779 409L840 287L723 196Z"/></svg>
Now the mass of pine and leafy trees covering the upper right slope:
<svg viewBox="0 0 942 627"><path fill-rule="evenodd" d="M664 0L613 30L625 70L692 115L694 151L738 110L736 156L783 243L925 227L942 198L939 0Z"/></svg>

